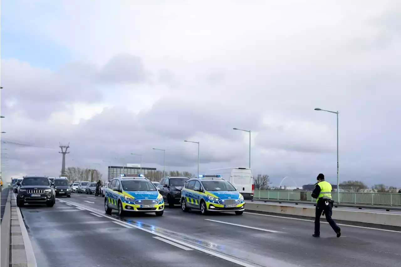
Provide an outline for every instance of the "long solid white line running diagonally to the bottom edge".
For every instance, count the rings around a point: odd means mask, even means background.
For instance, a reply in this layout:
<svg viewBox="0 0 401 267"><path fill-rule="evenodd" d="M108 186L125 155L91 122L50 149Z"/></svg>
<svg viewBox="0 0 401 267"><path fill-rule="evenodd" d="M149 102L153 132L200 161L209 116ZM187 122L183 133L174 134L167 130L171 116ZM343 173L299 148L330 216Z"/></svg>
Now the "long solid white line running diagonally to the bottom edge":
<svg viewBox="0 0 401 267"><path fill-rule="evenodd" d="M74 204L74 203L70 203L70 204L73 204L74 206L81 206L81 205L79 205L79 204ZM211 251L211 250L208 250L208 249L204 249L204 248L202 248L202 247L197 247L197 246L195 246L195 245L192 245L192 244L189 244L189 243L186 243L186 242L183 242L183 241L180 241L180 240L171 238L171 237L169 237L169 236L166 236L166 235L163 235L163 234L160 234L160 233L156 233L155 231L148 230L148 229L144 229L144 228L142 228L142 227L139 227L139 226L136 226L136 225L132 225L132 224L130 224L130 223L122 222L122 221L120 221L120 220L118 220L118 219L116 219L116 218L113 218L113 217L109 216L109 215L106 215L106 214L104 214L104 213L100 213L99 211L96 211L96 210L93 210L93 209L90 209L90 208L86 208L86 207L84 207L84 206L81 206L81 207L82 207L83 209L87 210L87 211L90 211L90 212L99 214L100 216L103 216L103 217L105 217L105 218L109 218L110 220L113 220L114 223L117 223L117 224L125 224L125 225L129 226L130 228L136 228L136 229L145 231L145 232L147 232L147 233L151 233L152 235L156 235L156 236L158 236L158 237L162 237L162 238L164 238L164 239L168 239L168 240L173 241L173 242L175 242L175 243L178 243L178 244L180 244L180 245L183 245L183 246L186 246L186 247L190 247L191 249L195 249L195 250L197 250L197 251L201 251L201 252L203 252L203 253L206 253L206 254L209 254L209 255L218 257L218 258L220 258L220 259L224 259L224 260L226 260L226 261L235 263L235 264L240 265L240 266L243 266L243 267L256 267L255 265L251 265L251 264L249 264L249 263L245 263L245 262L239 261L239 260L237 260L237 259L234 259L234 258L225 256L225 255L216 253L216 252L214 252L214 251Z"/></svg>

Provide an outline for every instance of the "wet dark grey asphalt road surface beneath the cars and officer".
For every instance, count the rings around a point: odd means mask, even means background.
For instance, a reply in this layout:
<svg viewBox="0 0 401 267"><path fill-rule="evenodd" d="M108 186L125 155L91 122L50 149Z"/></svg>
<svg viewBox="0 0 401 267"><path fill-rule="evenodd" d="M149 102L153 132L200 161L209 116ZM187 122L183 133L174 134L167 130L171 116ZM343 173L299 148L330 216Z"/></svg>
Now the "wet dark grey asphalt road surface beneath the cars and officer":
<svg viewBox="0 0 401 267"><path fill-rule="evenodd" d="M103 203L102 197L73 193L53 208L22 208L38 266L401 266L401 232L340 226L336 238L322 223L321 237L314 238L313 222L306 220L203 216L180 206L166 207L161 217L119 218L105 215Z"/></svg>

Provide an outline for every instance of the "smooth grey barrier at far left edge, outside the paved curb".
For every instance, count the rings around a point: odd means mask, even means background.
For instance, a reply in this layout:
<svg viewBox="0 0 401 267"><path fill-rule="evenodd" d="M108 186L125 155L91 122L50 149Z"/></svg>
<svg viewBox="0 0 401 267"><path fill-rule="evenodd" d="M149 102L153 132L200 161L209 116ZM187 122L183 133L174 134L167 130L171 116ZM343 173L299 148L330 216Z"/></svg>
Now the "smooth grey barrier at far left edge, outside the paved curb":
<svg viewBox="0 0 401 267"><path fill-rule="evenodd" d="M10 190L10 192L12 192ZM11 203L10 193L8 194L6 207L0 225L0 267L10 265L10 226L11 226Z"/></svg>

